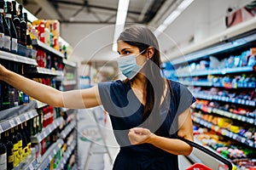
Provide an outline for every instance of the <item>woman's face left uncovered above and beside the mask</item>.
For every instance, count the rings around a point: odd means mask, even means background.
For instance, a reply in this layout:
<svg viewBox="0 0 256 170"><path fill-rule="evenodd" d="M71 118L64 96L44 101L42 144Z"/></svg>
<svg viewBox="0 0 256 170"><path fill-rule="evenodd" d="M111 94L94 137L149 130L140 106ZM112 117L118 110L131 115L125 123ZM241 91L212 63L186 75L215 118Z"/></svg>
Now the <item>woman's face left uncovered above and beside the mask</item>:
<svg viewBox="0 0 256 170"><path fill-rule="evenodd" d="M134 54L135 56L137 56L137 65L143 65L147 59L145 55L140 54L139 48L137 48L136 46L131 46L130 44L122 41L118 42L118 53L120 54L120 57Z"/></svg>

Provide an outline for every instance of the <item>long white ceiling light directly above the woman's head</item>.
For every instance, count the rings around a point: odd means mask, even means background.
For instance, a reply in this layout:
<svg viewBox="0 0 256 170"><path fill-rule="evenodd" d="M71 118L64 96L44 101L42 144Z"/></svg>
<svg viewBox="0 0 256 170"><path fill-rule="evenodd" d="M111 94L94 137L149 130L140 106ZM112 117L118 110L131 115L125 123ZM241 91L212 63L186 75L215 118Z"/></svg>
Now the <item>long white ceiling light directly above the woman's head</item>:
<svg viewBox="0 0 256 170"><path fill-rule="evenodd" d="M116 15L115 27L114 27L114 35L113 35L113 47L112 50L117 50L116 41L119 37L119 34L125 28L125 20L127 16L127 11L129 7L130 0L119 0L118 12Z"/></svg>

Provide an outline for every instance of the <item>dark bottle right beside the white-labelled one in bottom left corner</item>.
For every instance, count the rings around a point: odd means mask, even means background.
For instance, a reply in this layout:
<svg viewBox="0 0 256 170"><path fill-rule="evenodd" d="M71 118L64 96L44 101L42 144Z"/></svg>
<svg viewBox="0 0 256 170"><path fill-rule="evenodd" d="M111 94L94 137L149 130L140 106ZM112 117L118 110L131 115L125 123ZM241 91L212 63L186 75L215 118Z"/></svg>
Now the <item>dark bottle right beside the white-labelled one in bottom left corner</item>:
<svg viewBox="0 0 256 170"><path fill-rule="evenodd" d="M7 152L7 169L11 170L14 168L14 144L11 140L9 140L9 131L4 132L4 139L3 142L6 146Z"/></svg>

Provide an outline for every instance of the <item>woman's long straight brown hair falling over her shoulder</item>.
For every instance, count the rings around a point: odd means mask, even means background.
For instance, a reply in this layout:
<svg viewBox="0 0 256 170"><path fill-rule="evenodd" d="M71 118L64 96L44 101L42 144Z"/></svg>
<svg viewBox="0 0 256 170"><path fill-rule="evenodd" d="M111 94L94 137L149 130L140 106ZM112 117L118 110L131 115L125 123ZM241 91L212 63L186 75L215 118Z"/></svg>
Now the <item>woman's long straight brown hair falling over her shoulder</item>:
<svg viewBox="0 0 256 170"><path fill-rule="evenodd" d="M146 26L131 26L126 28L125 31L120 34L118 41L136 46L139 48L140 52L148 47L154 48L154 55L150 59L152 62L147 61L146 65L143 66L143 74L145 74L146 77L146 105L143 111L143 121L146 121L148 116L153 112L157 111L159 114L160 101L165 89L165 80L160 72L161 61L158 41L153 32ZM147 53L147 50L143 52L143 54L145 53ZM132 83L132 79L126 79L125 83ZM150 117L155 118L154 116ZM149 122L152 121L153 120L149 120Z"/></svg>

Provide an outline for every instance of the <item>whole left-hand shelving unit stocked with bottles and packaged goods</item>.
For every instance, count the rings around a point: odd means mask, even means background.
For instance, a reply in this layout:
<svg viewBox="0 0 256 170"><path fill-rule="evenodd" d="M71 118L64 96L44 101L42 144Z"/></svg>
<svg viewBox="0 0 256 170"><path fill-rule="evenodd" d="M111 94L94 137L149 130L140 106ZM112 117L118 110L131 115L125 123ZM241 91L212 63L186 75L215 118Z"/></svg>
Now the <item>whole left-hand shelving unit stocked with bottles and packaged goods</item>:
<svg viewBox="0 0 256 170"><path fill-rule="evenodd" d="M0 0L1 65L59 90L76 88L76 64L65 59L58 21L46 20L50 31L42 33L42 20L38 28L21 5L16 8L15 1ZM0 169L76 168L76 125L75 110L43 104L0 82Z"/></svg>

